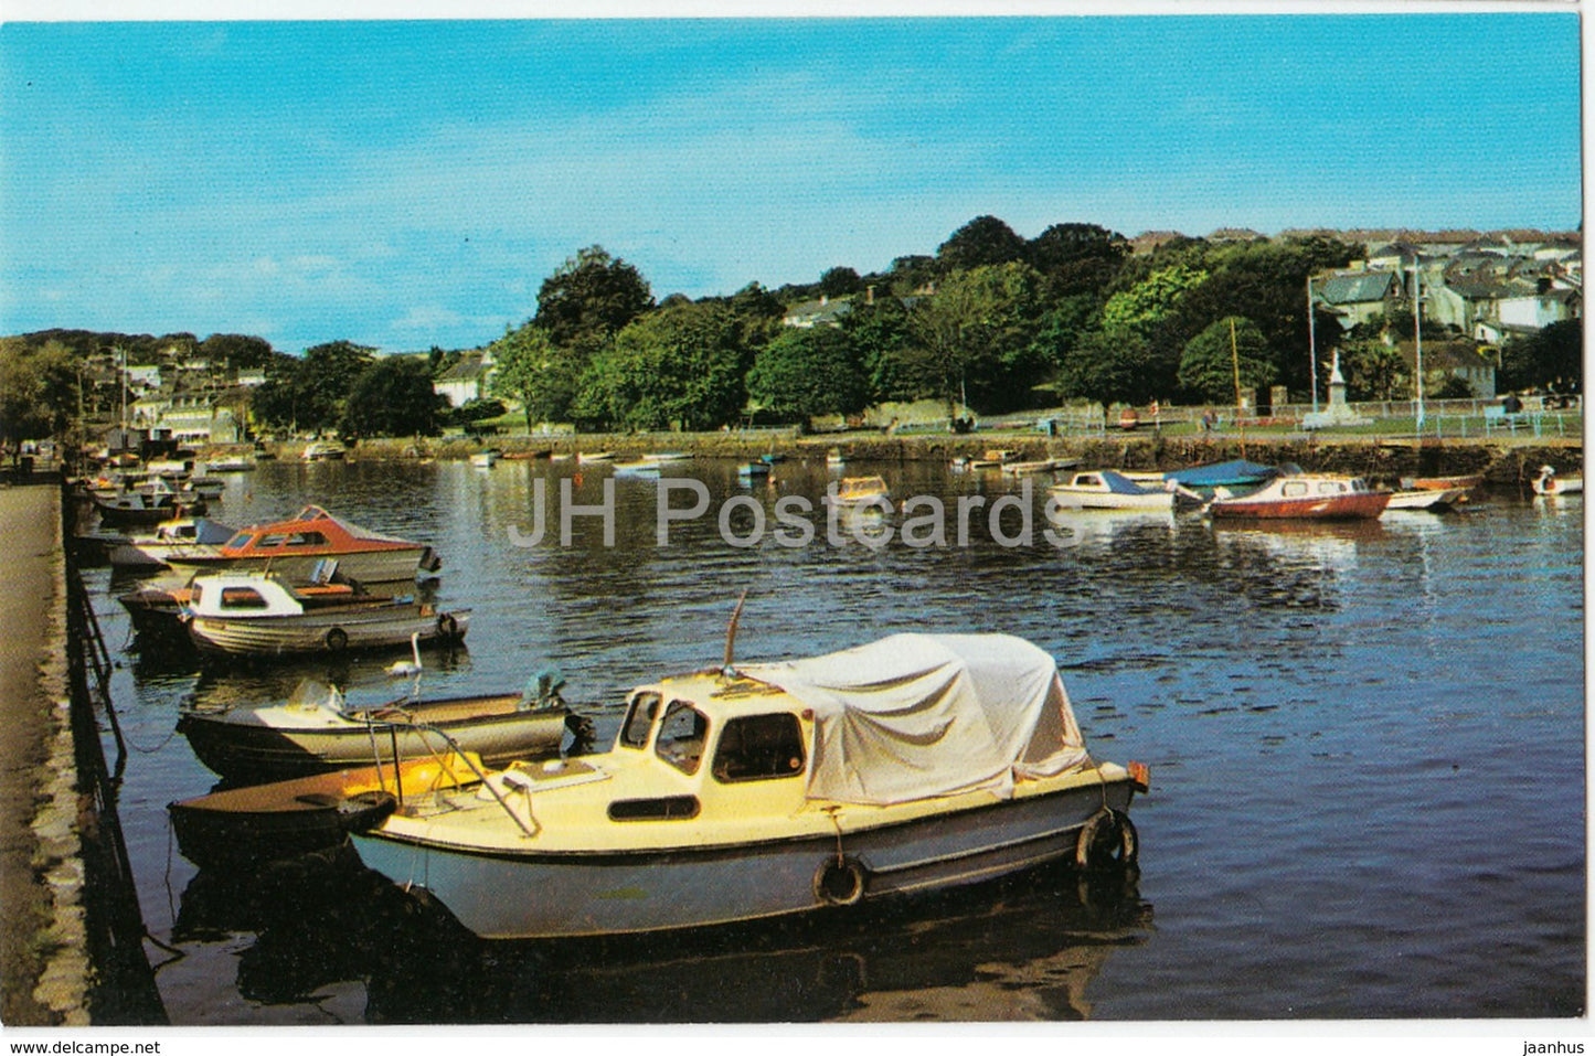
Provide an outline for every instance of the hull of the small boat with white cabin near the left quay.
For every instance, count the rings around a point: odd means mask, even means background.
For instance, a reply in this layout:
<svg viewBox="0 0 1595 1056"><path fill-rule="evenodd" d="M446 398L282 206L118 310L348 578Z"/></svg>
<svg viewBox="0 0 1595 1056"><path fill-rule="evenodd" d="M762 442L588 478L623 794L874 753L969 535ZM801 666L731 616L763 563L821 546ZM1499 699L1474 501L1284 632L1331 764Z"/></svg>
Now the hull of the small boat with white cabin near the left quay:
<svg viewBox="0 0 1595 1056"><path fill-rule="evenodd" d="M193 616L188 636L201 652L297 656L391 649L408 644L412 635L421 643L459 641L469 622L466 609L434 613L421 605L357 605L313 609L301 616Z"/></svg>

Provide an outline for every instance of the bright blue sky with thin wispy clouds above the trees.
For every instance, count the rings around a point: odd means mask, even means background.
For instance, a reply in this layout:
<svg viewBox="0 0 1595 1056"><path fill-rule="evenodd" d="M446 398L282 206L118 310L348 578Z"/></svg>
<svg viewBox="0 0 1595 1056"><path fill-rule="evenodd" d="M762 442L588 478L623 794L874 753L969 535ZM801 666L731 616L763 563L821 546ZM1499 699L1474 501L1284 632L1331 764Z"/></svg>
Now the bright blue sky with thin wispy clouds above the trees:
<svg viewBox="0 0 1595 1056"><path fill-rule="evenodd" d="M0 333L471 348L590 244L656 297L1124 234L1581 220L1573 10L0 26Z"/></svg>

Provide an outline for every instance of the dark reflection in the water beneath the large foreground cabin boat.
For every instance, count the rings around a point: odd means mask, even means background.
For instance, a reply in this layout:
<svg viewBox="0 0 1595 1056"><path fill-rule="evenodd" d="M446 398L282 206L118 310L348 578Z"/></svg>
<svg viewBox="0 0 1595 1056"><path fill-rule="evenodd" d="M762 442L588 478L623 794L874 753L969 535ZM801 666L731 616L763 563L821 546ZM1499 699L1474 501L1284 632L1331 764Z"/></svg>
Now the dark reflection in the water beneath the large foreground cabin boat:
<svg viewBox="0 0 1595 1056"><path fill-rule="evenodd" d="M305 1021L1062 1021L1116 948L1152 933L1134 874L1053 865L858 912L686 935L483 941L343 845L255 874L201 871L172 938L254 932L238 992ZM352 995L365 984L364 1011ZM292 1016L292 1010L282 1015Z"/></svg>

